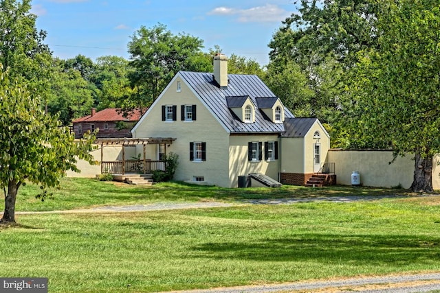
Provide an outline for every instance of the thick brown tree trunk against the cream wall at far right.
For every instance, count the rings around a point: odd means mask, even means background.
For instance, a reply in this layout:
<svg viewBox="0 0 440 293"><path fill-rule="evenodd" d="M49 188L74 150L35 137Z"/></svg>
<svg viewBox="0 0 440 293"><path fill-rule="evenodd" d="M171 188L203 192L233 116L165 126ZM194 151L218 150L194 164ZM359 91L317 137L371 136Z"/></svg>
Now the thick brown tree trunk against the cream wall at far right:
<svg viewBox="0 0 440 293"><path fill-rule="evenodd" d="M425 159L421 154L415 155L414 180L410 187L412 191L433 192L432 189L432 156Z"/></svg>

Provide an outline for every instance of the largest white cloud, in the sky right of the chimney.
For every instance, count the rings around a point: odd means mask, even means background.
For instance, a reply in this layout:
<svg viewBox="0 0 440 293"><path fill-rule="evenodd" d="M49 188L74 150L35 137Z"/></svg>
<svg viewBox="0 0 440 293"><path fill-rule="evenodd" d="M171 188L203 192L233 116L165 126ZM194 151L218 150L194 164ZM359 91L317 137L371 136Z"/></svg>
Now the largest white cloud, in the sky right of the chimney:
<svg viewBox="0 0 440 293"><path fill-rule="evenodd" d="M266 4L264 6L256 6L249 9L236 9L228 7L218 7L214 8L208 15L226 15L226 16L237 16L237 21L242 23L250 22L280 22L284 21L290 12L279 8L277 5Z"/></svg>

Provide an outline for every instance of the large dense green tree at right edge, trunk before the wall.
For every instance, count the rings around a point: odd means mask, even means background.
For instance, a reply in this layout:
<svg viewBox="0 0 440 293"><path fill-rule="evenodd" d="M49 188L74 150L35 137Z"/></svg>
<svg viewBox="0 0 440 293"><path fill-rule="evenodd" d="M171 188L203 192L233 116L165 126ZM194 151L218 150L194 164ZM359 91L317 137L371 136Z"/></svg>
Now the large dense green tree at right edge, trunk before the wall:
<svg viewBox="0 0 440 293"><path fill-rule="evenodd" d="M412 190L432 191L432 156L440 152L440 5L389 1L378 17L377 49L365 51L351 91L353 138L415 154Z"/></svg>

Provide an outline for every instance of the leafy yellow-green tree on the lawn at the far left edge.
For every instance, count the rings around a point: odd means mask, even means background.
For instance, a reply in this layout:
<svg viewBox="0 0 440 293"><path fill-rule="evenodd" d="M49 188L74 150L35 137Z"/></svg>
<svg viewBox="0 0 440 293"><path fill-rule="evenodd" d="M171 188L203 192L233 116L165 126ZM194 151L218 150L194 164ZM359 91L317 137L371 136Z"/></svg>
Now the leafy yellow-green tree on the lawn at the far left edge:
<svg viewBox="0 0 440 293"><path fill-rule="evenodd" d="M17 192L23 183L54 187L68 169L78 172L78 158L93 159L89 151L94 137L75 141L67 128L60 127L56 116L43 113L39 96L32 95L18 80L9 80L1 72L0 187L5 194L1 223L15 222Z"/></svg>

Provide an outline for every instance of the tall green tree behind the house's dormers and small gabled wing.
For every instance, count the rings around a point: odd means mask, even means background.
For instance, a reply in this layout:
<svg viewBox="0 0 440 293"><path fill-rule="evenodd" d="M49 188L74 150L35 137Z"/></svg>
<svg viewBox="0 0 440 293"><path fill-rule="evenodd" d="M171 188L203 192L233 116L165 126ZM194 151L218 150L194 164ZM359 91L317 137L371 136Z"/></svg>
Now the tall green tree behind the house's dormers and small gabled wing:
<svg viewBox="0 0 440 293"><path fill-rule="evenodd" d="M379 8L375 0L301 0L299 13L283 22L269 45L268 74L291 70L293 63L299 67L314 94L294 103L292 110L325 122L333 147L347 145L346 132L338 125L342 104L350 102L347 74L360 50L377 46ZM283 102L289 104L288 99L283 97Z"/></svg>

